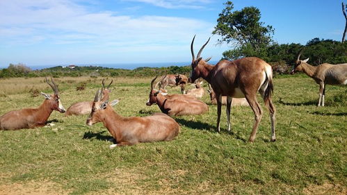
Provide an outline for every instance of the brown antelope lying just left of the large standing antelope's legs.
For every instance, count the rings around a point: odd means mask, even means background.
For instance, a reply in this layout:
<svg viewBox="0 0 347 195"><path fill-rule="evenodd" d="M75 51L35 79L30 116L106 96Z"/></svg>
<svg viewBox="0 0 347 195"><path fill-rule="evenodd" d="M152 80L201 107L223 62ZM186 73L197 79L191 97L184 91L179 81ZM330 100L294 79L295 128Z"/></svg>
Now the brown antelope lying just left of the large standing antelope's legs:
<svg viewBox="0 0 347 195"><path fill-rule="evenodd" d="M148 99L146 105L150 106L153 103L156 103L161 112L170 116L201 115L209 110L206 103L195 99L193 96L183 94L180 98L177 98L178 96L175 96L174 99L166 98L166 96L161 94L160 91L154 90L153 88L153 83L154 80L156 80L156 77L151 82L150 99ZM185 97L188 97L188 99Z"/></svg>

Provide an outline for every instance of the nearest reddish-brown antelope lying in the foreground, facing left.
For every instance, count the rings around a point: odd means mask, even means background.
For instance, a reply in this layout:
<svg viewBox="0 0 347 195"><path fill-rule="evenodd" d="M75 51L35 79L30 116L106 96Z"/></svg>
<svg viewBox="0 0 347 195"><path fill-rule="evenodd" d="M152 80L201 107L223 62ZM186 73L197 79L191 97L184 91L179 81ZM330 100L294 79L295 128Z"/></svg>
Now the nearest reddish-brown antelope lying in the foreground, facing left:
<svg viewBox="0 0 347 195"><path fill-rule="evenodd" d="M111 108L111 105L117 104L118 100L108 104L108 99L102 101L100 95L102 94L98 90L86 124L88 126L98 122L104 124L117 143L112 144L110 149L139 142L170 141L179 134L179 124L168 115L156 113L148 117L122 117Z"/></svg>

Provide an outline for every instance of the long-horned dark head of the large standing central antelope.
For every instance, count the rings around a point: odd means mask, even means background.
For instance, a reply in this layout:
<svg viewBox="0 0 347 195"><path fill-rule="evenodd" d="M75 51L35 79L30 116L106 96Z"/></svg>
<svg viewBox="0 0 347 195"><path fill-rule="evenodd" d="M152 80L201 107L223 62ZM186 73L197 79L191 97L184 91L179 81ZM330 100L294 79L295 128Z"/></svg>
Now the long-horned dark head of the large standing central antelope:
<svg viewBox="0 0 347 195"><path fill-rule="evenodd" d="M209 38L209 40L207 40L207 42L204 45L202 45L199 53L197 53L196 58L195 58L194 49L193 49L194 40L195 40L195 35L194 35L193 40L191 42L191 55L193 57L193 60L191 62L192 71L191 71L191 75L189 76L189 82L190 83L194 83L197 78L201 77L201 74L202 74L201 71L203 69L203 65L206 64L206 62L208 62L209 60L211 60L211 58L207 58L206 60L202 60L202 58L200 57L202 49L204 49L204 47L207 45L207 43L209 43L210 38Z"/></svg>

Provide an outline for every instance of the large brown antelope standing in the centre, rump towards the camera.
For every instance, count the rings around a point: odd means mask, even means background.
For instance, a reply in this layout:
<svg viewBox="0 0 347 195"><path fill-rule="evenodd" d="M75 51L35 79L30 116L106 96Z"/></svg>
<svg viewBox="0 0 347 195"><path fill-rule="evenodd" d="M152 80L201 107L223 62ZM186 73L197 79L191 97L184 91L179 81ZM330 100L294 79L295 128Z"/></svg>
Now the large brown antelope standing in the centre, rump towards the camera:
<svg viewBox="0 0 347 195"><path fill-rule="evenodd" d="M257 135L259 122L261 121L262 111L257 102L257 92L264 99L265 105L270 111L271 116L271 141L275 141L275 107L271 100L273 91L273 72L271 65L264 60L250 57L234 60L232 62L221 60L217 65L209 65L205 60L200 58L200 53L209 40L202 46L197 57L195 58L193 51L193 43L195 36L191 42L191 54L193 57L191 67L191 82L197 78L204 78L211 84L213 91L217 97L217 130L220 131L220 112L222 106L222 96L227 96L227 124L228 130L230 126L230 107L232 98L245 97L253 112L255 113L255 123L250 135L250 142L254 142Z"/></svg>

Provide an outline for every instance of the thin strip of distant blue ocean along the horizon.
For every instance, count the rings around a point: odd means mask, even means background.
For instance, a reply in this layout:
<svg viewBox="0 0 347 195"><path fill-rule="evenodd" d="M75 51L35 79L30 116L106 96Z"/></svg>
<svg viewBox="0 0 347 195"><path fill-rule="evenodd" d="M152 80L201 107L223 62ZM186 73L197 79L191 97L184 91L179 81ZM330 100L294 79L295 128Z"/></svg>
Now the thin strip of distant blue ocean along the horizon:
<svg viewBox="0 0 347 195"><path fill-rule="evenodd" d="M138 67L170 67L170 66L188 66L191 65L191 62L154 62L154 63L118 63L118 64L70 64L70 65L76 65L79 67L108 67L108 68L114 68L114 69L136 69ZM57 67L62 66L66 67L69 65L40 65L40 66L31 66L27 65L33 70L38 69L45 69L49 67ZM1 69L1 68L0 68Z"/></svg>

